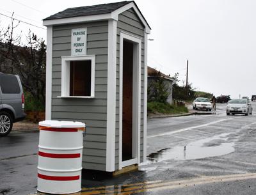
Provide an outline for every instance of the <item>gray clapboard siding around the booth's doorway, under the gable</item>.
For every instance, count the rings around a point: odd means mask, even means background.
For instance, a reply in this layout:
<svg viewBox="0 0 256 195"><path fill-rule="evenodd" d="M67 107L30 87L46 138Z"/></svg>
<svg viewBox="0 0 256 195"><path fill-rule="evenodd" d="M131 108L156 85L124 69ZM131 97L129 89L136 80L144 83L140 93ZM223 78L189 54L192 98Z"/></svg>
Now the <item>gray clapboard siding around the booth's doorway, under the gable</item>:
<svg viewBox="0 0 256 195"><path fill-rule="evenodd" d="M137 17L134 10L131 8L120 15L118 15L117 21L117 45L116 45L116 111L119 111L119 56L120 56L120 31L125 31L129 34L136 35L142 38L141 44L141 162L143 160L143 105L144 105L144 26L140 19ZM116 143L119 140L119 113L116 113ZM118 169L118 151L116 147L116 161L115 169Z"/></svg>

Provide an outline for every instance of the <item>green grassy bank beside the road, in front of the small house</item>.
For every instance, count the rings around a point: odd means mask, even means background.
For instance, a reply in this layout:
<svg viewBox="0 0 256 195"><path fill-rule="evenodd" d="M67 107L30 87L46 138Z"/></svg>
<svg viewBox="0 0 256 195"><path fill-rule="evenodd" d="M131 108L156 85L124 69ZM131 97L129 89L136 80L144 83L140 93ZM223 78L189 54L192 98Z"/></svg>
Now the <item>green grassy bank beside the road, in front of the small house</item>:
<svg viewBox="0 0 256 195"><path fill-rule="evenodd" d="M181 114L188 113L188 108L185 106L170 105L161 102L148 102L149 114Z"/></svg>

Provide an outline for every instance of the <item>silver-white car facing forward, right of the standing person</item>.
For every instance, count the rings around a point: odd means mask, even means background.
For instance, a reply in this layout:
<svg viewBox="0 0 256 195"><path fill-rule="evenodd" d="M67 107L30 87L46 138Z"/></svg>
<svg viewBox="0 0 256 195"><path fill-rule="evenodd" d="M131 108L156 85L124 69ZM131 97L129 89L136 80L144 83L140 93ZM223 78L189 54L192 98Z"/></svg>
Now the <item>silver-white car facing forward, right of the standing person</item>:
<svg viewBox="0 0 256 195"><path fill-rule="evenodd" d="M229 114L252 114L252 105L247 98L232 99L227 104L227 115Z"/></svg>

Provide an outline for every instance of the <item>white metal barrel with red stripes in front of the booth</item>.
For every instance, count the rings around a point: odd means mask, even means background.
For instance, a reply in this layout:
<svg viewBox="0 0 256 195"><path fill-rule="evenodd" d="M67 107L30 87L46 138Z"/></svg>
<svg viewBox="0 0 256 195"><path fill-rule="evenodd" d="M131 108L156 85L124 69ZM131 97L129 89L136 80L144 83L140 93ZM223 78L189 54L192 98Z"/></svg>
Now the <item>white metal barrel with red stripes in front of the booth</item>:
<svg viewBox="0 0 256 195"><path fill-rule="evenodd" d="M85 124L45 120L39 129L37 190L51 194L81 191Z"/></svg>

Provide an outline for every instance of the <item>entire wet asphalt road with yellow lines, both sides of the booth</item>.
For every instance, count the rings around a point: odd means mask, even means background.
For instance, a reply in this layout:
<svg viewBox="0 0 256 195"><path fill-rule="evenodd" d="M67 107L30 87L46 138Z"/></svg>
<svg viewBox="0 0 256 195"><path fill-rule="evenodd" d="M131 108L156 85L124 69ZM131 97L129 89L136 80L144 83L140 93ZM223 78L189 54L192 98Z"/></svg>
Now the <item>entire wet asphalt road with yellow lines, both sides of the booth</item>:
<svg viewBox="0 0 256 195"><path fill-rule="evenodd" d="M148 160L134 173L83 180L79 194L256 194L256 102L252 116L148 120ZM186 147L184 147L186 146ZM38 133L0 137L0 194L36 191Z"/></svg>

